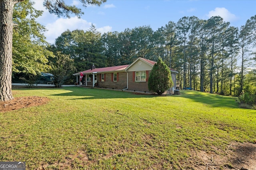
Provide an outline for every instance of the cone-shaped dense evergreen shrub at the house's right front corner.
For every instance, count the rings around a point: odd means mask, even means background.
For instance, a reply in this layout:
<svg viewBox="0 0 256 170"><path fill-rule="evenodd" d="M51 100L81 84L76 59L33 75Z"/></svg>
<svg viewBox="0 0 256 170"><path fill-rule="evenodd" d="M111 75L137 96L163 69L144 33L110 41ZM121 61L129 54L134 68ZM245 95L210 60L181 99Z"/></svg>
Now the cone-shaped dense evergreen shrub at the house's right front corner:
<svg viewBox="0 0 256 170"><path fill-rule="evenodd" d="M173 86L170 68L159 57L148 78L148 89L163 94Z"/></svg>

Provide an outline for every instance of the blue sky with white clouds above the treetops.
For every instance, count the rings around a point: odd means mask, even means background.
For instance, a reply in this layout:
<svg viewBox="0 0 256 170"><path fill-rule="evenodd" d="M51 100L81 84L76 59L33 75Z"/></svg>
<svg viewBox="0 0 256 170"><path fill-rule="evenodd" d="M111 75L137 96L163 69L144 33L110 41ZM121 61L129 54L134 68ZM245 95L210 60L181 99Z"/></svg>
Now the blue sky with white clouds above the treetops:
<svg viewBox="0 0 256 170"><path fill-rule="evenodd" d="M88 30L94 24L101 33L122 32L126 28L150 26L154 31L169 21L177 22L184 16L196 16L207 20L211 16L221 16L231 26L241 27L246 20L256 15L256 0L107 0L101 6L81 6L79 0L65 0L82 9L84 15L78 19L58 18L45 10L43 0L34 0L34 7L44 10L37 19L48 31L44 34L49 43L69 29Z"/></svg>

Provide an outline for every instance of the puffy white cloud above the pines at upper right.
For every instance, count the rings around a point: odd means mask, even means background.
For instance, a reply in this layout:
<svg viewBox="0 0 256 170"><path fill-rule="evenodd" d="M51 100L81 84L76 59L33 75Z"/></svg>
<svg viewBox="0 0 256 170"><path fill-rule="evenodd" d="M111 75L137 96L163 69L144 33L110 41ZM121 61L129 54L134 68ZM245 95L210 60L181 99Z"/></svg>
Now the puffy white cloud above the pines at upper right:
<svg viewBox="0 0 256 170"><path fill-rule="evenodd" d="M211 18L212 16L220 16L224 21L235 21L237 17L230 13L226 8L215 8L214 11L210 11L207 16Z"/></svg>

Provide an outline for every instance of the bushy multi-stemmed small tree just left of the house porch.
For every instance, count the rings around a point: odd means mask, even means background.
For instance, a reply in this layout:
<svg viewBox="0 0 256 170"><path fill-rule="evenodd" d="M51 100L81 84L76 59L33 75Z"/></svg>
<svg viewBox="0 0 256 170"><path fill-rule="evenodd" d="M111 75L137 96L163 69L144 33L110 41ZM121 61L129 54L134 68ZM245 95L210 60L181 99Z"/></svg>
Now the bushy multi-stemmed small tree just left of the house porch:
<svg viewBox="0 0 256 170"><path fill-rule="evenodd" d="M75 71L74 61L68 55L58 53L56 63L51 63L50 73L54 75L54 85L61 88L62 84Z"/></svg>

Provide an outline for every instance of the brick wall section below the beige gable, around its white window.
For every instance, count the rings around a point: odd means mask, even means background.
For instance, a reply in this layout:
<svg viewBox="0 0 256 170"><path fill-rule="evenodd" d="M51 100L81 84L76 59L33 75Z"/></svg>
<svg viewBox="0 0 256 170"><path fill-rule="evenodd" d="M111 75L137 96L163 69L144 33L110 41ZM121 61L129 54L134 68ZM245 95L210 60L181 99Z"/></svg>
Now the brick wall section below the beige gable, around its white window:
<svg viewBox="0 0 256 170"><path fill-rule="evenodd" d="M148 71L148 76L151 70ZM137 92L150 92L148 90L148 81L146 82L135 82L133 78L133 72L128 72L128 90L137 91Z"/></svg>

